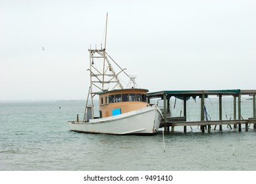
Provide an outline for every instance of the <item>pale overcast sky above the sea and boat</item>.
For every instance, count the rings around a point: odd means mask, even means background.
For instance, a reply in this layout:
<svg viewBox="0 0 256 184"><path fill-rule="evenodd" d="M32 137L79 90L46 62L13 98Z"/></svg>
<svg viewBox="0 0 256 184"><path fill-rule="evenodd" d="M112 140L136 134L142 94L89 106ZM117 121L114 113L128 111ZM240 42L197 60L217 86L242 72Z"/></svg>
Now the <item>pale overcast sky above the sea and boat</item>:
<svg viewBox="0 0 256 184"><path fill-rule="evenodd" d="M255 10L253 0L0 0L0 101L86 99L106 12L107 53L141 88L256 89Z"/></svg>

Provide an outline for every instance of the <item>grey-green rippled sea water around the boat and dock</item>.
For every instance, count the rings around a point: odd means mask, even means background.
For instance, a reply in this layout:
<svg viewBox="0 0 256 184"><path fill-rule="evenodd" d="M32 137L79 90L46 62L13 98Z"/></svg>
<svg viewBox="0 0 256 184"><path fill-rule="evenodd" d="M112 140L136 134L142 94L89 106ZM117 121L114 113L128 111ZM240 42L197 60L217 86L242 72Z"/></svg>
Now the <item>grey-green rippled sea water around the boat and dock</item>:
<svg viewBox="0 0 256 184"><path fill-rule="evenodd" d="M205 99L209 118L218 120L218 99ZM233 118L233 99L224 98L223 120ZM182 101L171 101L180 116ZM188 101L188 120L199 120L200 100ZM256 170L256 131L223 126L201 133L196 126L174 135L117 136L75 133L68 120L82 119L84 101L1 102L0 170ZM175 108L174 108L175 107ZM242 116L252 116L242 99ZM234 154L234 155L233 155Z"/></svg>

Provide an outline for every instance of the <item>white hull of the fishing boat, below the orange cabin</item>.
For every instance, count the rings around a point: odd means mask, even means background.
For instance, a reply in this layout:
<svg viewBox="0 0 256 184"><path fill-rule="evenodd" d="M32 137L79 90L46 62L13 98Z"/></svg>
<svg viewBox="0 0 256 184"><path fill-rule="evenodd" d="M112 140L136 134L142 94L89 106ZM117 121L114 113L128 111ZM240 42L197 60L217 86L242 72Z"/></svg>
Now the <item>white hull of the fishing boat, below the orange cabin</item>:
<svg viewBox="0 0 256 184"><path fill-rule="evenodd" d="M157 133L163 115L156 105L89 122L69 122L72 131L116 135Z"/></svg>

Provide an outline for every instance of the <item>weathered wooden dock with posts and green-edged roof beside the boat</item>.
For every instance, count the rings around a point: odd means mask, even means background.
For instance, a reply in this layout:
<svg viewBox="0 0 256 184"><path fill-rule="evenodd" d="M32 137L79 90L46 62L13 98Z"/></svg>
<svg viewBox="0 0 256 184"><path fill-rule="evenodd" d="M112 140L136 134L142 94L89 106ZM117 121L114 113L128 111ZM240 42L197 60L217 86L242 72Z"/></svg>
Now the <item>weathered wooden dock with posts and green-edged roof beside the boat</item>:
<svg viewBox="0 0 256 184"><path fill-rule="evenodd" d="M249 124L253 124L253 129L256 129L256 104L255 104L255 95L256 90L240 90L240 89L227 89L227 90L209 90L209 91L158 91L155 93L147 93L149 98L161 98L164 102L164 110L163 116L164 120L162 121L160 127L165 127L166 133L174 133L174 127L183 126L184 132L186 132L187 126L200 126L201 131L204 133L205 129L207 129L208 133L211 133L212 126L219 126L219 130L222 130L223 125L234 125L234 128L238 127L238 131L242 131L242 124L245 125L245 131L248 131ZM217 95L218 97L218 115L219 120L216 121L207 121L205 120L205 98L209 95ZM222 96L231 95L234 97L234 117L233 120L222 120ZM241 97L242 95L251 95L253 97L253 118L249 118L248 120L243 120L241 115ZM170 97L175 97L178 99L183 100L183 117L168 117L170 114ZM201 120L200 121L193 121L187 122L186 121L186 112L187 112L187 105L186 101L193 97L199 97L201 100ZM238 103L237 103L238 100ZM236 105L238 104L238 105ZM170 131L171 127L171 131Z"/></svg>

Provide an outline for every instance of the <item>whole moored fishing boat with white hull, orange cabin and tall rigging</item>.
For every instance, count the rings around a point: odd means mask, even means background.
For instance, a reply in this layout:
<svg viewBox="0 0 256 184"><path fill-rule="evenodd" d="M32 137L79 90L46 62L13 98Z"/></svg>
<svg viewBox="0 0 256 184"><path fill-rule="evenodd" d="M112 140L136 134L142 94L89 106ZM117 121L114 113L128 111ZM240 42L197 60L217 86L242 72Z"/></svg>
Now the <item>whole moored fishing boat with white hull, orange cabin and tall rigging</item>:
<svg viewBox="0 0 256 184"><path fill-rule="evenodd" d="M90 87L86 101L84 119L69 121L70 130L84 133L106 133L115 135L153 135L157 133L163 114L157 104L150 104L147 89L137 87L136 75L128 75L106 52L105 48L89 49ZM102 46L101 46L102 47ZM115 64L115 67L114 67ZM119 72L115 72L116 68ZM128 77L126 88L119 76ZM123 79L122 79L123 81ZM98 97L98 100L95 100ZM98 103L95 105L95 102ZM99 112L95 112L98 106ZM97 114L97 116L95 116Z"/></svg>

